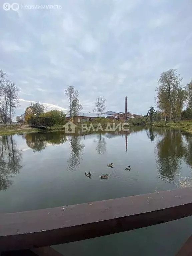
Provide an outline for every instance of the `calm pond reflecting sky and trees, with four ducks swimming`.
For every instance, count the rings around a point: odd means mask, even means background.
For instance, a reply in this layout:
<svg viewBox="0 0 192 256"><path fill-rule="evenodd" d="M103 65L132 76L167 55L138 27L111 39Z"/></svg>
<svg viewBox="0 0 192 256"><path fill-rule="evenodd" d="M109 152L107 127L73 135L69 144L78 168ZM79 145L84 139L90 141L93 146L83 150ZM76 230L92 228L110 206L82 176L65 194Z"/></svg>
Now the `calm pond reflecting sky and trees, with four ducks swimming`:
<svg viewBox="0 0 192 256"><path fill-rule="evenodd" d="M113 163L114 167L107 167ZM131 170L125 168L130 165ZM91 178L85 176L91 172ZM99 178L108 174L107 180ZM192 135L131 127L129 132L62 131L0 137L0 213L152 193L192 185ZM192 218L53 246L64 255L175 255ZM176 242L177 241L177 242Z"/></svg>

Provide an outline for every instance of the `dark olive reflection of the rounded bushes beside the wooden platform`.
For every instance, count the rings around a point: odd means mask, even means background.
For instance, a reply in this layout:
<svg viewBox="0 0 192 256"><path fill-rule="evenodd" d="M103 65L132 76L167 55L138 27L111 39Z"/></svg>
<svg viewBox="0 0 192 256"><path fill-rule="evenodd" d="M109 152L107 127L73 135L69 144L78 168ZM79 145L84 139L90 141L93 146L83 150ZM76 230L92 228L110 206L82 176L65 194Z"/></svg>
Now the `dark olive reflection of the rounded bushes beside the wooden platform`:
<svg viewBox="0 0 192 256"><path fill-rule="evenodd" d="M58 145L67 141L64 133L28 133L25 135L27 146L33 149L33 152L41 151L46 148L47 143Z"/></svg>

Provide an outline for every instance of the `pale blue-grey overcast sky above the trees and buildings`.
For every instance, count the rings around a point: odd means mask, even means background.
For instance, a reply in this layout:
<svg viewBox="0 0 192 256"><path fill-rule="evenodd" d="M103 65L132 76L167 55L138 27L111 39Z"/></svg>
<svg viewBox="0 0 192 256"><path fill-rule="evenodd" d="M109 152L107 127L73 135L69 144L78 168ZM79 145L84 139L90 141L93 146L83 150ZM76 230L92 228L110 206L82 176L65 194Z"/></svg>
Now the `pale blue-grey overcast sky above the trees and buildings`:
<svg viewBox="0 0 192 256"><path fill-rule="evenodd" d="M97 96L106 111L124 111L127 96L131 113L146 114L161 72L176 68L183 85L192 78L191 0L15 1L17 11L0 1L0 69L20 88L16 115L33 101L67 109L69 85L84 112Z"/></svg>

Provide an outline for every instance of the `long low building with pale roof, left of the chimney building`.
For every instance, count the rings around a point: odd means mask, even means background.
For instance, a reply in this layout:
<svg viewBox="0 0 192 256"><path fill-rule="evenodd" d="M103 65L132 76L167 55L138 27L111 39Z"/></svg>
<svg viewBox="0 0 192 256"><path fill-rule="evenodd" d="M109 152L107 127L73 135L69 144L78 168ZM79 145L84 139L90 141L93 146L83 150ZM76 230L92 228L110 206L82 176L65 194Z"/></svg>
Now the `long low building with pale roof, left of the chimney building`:
<svg viewBox="0 0 192 256"><path fill-rule="evenodd" d="M104 115L102 114L101 117L103 118L113 118L112 116L109 115ZM66 115L67 121L69 121L72 117L70 115ZM86 121L92 121L93 119L98 118L98 115L96 113L85 113L85 112L80 112L78 116L73 116L73 122L74 123L82 123Z"/></svg>

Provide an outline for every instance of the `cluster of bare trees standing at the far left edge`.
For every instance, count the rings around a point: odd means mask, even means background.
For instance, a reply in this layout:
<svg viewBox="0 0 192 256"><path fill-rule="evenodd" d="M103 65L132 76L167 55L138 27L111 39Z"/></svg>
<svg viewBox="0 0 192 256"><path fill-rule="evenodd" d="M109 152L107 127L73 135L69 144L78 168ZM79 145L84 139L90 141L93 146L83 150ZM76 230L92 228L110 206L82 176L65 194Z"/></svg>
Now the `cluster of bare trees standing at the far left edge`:
<svg viewBox="0 0 192 256"><path fill-rule="evenodd" d="M15 109L19 107L19 88L7 79L7 74L0 70L0 121L12 123Z"/></svg>

